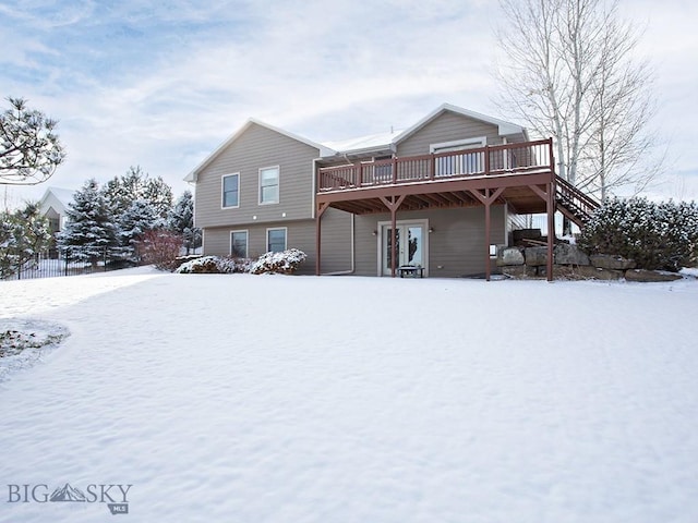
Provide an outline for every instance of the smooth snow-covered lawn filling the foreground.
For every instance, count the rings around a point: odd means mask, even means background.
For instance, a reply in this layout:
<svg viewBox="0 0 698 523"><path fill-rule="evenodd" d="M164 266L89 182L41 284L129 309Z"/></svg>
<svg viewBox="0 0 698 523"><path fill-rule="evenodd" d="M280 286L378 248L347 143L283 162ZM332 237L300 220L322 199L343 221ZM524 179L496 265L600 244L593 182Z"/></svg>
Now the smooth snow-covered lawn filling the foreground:
<svg viewBox="0 0 698 523"><path fill-rule="evenodd" d="M1 282L70 336L0 384L0 521L696 522L697 314L695 280Z"/></svg>

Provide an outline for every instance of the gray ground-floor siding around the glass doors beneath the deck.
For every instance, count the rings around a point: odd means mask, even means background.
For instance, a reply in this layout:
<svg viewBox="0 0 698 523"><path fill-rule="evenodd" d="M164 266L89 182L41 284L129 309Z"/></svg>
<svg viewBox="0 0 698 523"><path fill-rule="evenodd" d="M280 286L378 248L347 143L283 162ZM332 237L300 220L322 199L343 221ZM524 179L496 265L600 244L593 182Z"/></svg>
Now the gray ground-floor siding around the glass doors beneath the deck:
<svg viewBox="0 0 698 523"><path fill-rule="evenodd" d="M492 206L492 243L506 241L505 208ZM434 232L429 234L429 276L461 277L485 271L486 245L484 241L484 207L407 211L397 214L398 221L429 219ZM378 273L378 236L373 235L380 221L389 221L390 215L358 216L357 273Z"/></svg>

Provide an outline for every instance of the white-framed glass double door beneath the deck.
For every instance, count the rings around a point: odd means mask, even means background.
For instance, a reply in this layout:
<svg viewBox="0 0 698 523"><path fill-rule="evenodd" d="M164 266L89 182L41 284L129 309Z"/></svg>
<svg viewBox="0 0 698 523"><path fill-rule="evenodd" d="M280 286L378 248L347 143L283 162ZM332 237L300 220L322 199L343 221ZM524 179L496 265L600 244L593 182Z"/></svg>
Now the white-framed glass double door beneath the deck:
<svg viewBox="0 0 698 523"><path fill-rule="evenodd" d="M395 229L395 248L393 248L392 227L381 227L381 273L392 275L393 255L395 253L395 267L411 265L426 267L426 227L422 223L399 223Z"/></svg>

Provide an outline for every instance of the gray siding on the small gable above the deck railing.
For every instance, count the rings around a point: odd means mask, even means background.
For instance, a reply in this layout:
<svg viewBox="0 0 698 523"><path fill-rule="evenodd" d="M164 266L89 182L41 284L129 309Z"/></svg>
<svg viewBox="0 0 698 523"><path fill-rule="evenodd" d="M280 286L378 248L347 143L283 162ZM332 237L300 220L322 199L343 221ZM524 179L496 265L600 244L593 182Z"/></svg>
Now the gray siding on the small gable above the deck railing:
<svg viewBox="0 0 698 523"><path fill-rule="evenodd" d="M486 136L488 145L503 143L496 125L446 111L398 144L397 156L426 155L431 144L480 136Z"/></svg>

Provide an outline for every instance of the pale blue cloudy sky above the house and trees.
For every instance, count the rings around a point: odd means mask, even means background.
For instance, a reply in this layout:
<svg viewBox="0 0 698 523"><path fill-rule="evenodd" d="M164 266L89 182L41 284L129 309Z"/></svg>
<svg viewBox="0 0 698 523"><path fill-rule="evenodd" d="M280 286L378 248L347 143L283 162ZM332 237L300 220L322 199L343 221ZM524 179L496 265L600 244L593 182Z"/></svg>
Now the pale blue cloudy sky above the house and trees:
<svg viewBox="0 0 698 523"><path fill-rule="evenodd" d="M669 169L652 191L698 199L698 7L658 5L621 3L657 73ZM320 142L406 127L443 102L515 120L493 102L497 16L492 0L0 0L0 95L58 119L69 155L9 203L132 165L179 195L250 117Z"/></svg>

